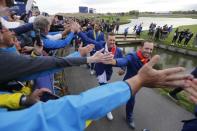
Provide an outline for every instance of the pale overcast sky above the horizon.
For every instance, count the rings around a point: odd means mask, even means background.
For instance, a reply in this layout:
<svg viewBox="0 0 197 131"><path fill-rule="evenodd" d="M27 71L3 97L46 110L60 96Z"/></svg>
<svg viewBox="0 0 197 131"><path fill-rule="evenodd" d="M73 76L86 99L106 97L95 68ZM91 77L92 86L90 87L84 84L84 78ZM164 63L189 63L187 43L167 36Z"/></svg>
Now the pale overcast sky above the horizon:
<svg viewBox="0 0 197 131"><path fill-rule="evenodd" d="M76 13L79 6L95 8L97 13L128 12L131 10L167 12L197 10L197 0L35 0L40 11Z"/></svg>

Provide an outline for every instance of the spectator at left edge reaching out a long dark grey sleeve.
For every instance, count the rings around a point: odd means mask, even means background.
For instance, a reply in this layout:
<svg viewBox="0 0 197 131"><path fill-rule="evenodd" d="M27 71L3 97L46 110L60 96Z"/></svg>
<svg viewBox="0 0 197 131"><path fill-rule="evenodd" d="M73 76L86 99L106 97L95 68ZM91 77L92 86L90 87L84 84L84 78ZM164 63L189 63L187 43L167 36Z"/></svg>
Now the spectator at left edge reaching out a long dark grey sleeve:
<svg viewBox="0 0 197 131"><path fill-rule="evenodd" d="M1 75L0 75L0 83L5 83L7 81L28 76L32 73L39 73L42 70L51 70L54 68L62 68L65 66L78 65L96 62L98 59L95 59L95 55L93 57L88 58L56 58L56 57L38 57L32 58L30 56L23 56L17 53L9 52L7 47L13 47L14 37L13 33L3 28L0 33L0 63L1 66ZM41 48L41 47L40 47ZM12 49L11 49L12 50ZM100 53L99 53L100 54ZM109 55L107 53L106 55ZM98 55L99 57L103 57L106 55ZM103 59L104 60L104 59ZM10 66L7 65L8 61L11 63ZM30 64L31 63L31 64ZM12 66L15 65L15 66ZM9 67L9 70L4 70ZM27 68L27 69L26 69ZM6 73L9 72L9 73Z"/></svg>

